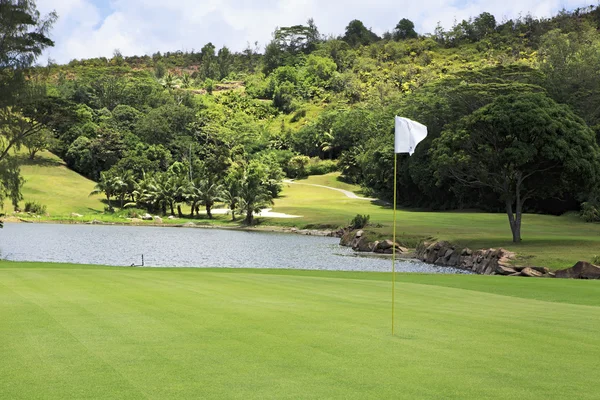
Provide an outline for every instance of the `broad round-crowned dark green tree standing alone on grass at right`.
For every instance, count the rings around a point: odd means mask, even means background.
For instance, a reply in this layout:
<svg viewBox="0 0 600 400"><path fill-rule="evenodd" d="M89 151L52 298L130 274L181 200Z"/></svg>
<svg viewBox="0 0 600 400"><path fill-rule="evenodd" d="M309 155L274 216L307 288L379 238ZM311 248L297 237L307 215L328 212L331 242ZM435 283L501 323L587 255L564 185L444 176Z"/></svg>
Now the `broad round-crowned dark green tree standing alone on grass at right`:
<svg viewBox="0 0 600 400"><path fill-rule="evenodd" d="M501 197L515 243L527 200L588 187L600 160L594 132L542 93L499 96L446 129L431 154L440 180Z"/></svg>

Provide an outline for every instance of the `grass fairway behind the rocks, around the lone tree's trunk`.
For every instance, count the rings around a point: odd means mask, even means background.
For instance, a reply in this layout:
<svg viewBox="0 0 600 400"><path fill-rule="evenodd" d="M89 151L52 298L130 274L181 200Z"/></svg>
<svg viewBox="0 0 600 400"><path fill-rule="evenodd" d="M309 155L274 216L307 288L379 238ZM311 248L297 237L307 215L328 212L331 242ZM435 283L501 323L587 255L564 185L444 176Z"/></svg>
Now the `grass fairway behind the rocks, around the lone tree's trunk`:
<svg viewBox="0 0 600 400"><path fill-rule="evenodd" d="M341 182L333 184L335 175L310 177L303 183L325 184L357 191ZM282 198L275 201L274 211L302 215L307 223L345 225L356 214L369 214L376 233L389 235L392 210L368 201L353 200L342 193L318 187L286 184ZM277 223L277 221L274 221ZM584 223L574 214L560 217L527 214L523 217L523 242L511 242L508 220L504 214L468 212L398 211L398 234L408 245L416 238L434 236L472 248L504 247L517 252L521 262L552 268L572 266L578 260L591 260L600 254L600 224Z"/></svg>

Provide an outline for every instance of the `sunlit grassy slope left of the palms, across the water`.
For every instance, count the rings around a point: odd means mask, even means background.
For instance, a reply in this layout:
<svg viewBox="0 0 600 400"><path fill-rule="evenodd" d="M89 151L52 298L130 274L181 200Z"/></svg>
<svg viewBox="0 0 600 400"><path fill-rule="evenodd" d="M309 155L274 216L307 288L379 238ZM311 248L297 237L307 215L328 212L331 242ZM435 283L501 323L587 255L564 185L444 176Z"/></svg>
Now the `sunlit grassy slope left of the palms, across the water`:
<svg viewBox="0 0 600 400"><path fill-rule="evenodd" d="M68 169L55 155L43 152L35 160L24 158L23 162L23 204L37 201L46 205L50 215L89 214L104 209L101 196L88 196L95 183ZM9 206L5 204L7 211Z"/></svg>

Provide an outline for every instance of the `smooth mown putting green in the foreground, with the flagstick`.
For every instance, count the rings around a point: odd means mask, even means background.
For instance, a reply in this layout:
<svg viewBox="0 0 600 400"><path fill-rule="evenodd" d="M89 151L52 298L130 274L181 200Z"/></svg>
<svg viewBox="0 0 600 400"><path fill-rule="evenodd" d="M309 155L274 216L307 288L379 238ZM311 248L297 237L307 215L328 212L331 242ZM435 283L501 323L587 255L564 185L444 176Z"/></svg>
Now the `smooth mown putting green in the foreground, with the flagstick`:
<svg viewBox="0 0 600 400"><path fill-rule="evenodd" d="M593 281L0 262L0 398L595 399Z"/></svg>

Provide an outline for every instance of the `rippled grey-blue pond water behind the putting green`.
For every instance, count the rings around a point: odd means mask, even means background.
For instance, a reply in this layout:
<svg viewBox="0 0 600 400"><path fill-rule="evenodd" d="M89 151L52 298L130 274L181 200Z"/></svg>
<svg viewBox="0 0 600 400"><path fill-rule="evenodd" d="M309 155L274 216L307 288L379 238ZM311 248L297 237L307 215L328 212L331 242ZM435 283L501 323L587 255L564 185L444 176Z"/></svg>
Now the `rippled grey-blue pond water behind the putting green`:
<svg viewBox="0 0 600 400"><path fill-rule="evenodd" d="M290 268L390 271L389 258L363 257L339 239L289 233L176 227L10 224L0 229L0 257L13 261L141 264L148 267ZM460 273L399 260L398 272Z"/></svg>

